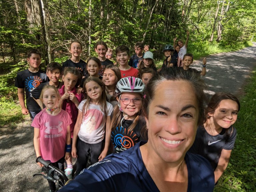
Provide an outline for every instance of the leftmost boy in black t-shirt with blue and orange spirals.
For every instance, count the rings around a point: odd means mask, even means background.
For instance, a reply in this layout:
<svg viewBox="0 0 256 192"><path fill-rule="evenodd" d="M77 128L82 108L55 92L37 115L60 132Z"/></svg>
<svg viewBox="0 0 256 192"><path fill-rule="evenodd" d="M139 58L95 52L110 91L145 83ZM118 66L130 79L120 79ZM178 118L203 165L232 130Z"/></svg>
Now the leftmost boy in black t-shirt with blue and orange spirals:
<svg viewBox="0 0 256 192"><path fill-rule="evenodd" d="M29 63L29 68L17 74L15 87L18 88L18 98L20 101L22 114L29 114L31 120L33 120L36 114L41 111L41 108L31 96L31 92L41 83L46 82L47 76L42 70L39 69L41 64L41 53L39 50L30 50L28 52L27 62ZM25 93L26 105L24 98Z"/></svg>

